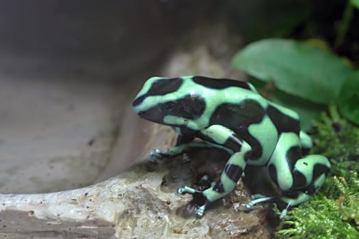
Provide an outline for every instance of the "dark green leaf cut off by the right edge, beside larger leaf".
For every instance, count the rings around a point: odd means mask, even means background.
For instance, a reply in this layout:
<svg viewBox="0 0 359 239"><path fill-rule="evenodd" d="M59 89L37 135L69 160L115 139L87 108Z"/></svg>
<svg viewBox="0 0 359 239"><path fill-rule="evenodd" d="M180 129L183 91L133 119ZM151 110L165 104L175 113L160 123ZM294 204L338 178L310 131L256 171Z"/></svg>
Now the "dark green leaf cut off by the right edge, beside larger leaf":
<svg viewBox="0 0 359 239"><path fill-rule="evenodd" d="M359 124L359 70L345 79L338 97L338 106L347 119Z"/></svg>

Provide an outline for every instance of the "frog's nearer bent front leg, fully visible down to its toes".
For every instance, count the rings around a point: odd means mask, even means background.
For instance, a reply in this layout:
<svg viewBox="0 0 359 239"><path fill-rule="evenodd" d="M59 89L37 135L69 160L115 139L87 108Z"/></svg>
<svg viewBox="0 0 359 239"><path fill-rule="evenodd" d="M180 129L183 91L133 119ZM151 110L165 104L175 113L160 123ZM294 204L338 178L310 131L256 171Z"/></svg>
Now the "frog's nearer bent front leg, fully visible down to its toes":
<svg viewBox="0 0 359 239"><path fill-rule="evenodd" d="M220 125L204 128L200 131L199 137L229 148L233 152L222 171L220 180L210 188L204 191L198 191L189 186L178 188L178 193L201 193L205 197L206 201L204 204L196 210L196 216L200 217L203 216L204 210L206 210L210 203L228 195L235 188L237 181L241 178L245 169L246 161L252 149L247 142L239 139L235 132Z"/></svg>

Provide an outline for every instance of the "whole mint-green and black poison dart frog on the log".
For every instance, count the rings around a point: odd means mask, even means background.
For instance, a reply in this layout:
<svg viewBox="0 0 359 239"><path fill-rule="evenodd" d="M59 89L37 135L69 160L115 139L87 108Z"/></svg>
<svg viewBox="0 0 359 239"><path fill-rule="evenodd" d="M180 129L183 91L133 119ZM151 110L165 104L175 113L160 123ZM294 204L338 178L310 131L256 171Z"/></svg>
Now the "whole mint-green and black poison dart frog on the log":
<svg viewBox="0 0 359 239"><path fill-rule="evenodd" d="M297 113L263 98L245 81L205 76L152 77L135 97L133 110L144 119L172 126L178 132L172 150L152 150L152 161L198 147L200 143L193 141L195 138L201 139L205 147L230 152L220 180L209 188L178 188L180 194L199 193L205 198L195 211L198 217L213 201L235 188L246 165L265 167L281 194L252 195L245 207L280 201L285 205L281 218L293 206L310 199L330 171L325 156L303 156L302 148L310 148L313 143L300 130Z"/></svg>

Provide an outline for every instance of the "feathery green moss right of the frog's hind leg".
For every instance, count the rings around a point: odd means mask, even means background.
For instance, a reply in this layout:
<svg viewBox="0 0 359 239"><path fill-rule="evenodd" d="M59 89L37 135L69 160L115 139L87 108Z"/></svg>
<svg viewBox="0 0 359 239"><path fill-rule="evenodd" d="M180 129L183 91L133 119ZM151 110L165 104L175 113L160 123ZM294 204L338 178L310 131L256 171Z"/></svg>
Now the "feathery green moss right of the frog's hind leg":
<svg viewBox="0 0 359 239"><path fill-rule="evenodd" d="M323 154L332 169L321 191L290 210L276 238L359 238L359 128L330 106L315 122L310 154ZM279 212L278 212L279 213Z"/></svg>

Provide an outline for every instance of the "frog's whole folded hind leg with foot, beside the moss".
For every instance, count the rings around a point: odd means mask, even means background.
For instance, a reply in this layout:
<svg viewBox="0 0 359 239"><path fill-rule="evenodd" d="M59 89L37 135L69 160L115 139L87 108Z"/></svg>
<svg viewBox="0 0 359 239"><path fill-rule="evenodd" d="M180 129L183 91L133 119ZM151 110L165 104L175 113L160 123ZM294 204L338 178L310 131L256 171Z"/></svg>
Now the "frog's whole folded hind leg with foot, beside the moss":
<svg viewBox="0 0 359 239"><path fill-rule="evenodd" d="M281 217L292 206L297 206L321 187L330 170L327 158L321 155L302 156L302 138L294 132L282 132L267 168L271 179L278 185L282 196L258 197L247 204L248 208L271 199L286 203Z"/></svg>

